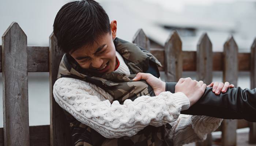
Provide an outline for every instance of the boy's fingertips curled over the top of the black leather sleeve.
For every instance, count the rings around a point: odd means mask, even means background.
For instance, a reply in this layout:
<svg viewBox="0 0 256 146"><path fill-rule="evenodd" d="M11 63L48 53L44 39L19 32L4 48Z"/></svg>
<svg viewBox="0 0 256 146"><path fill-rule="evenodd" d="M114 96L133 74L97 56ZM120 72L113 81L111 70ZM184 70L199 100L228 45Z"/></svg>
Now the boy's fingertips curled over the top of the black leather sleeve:
<svg viewBox="0 0 256 146"><path fill-rule="evenodd" d="M223 84L223 82L211 82L207 87L212 87L212 92L219 95L221 92L226 93L227 88L234 88L235 86L233 84L230 85L229 82L225 82L225 84Z"/></svg>

